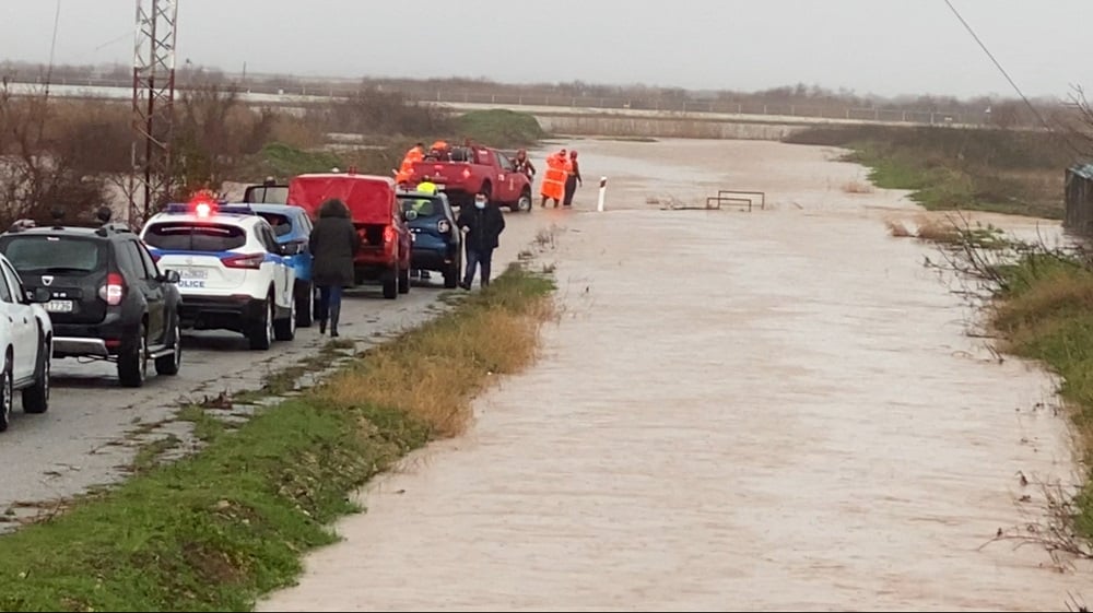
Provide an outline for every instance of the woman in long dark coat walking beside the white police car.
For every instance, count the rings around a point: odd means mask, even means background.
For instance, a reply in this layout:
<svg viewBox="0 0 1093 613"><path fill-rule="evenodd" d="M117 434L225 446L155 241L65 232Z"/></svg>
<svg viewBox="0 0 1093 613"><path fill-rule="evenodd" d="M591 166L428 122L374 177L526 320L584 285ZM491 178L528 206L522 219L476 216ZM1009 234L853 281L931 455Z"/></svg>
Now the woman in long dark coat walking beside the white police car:
<svg viewBox="0 0 1093 613"><path fill-rule="evenodd" d="M319 288L319 333L326 333L329 319L330 335L337 337L342 287L355 281L353 257L361 248L361 237L350 221L344 202L331 199L319 207L319 219L312 228L308 248L312 251L312 283Z"/></svg>

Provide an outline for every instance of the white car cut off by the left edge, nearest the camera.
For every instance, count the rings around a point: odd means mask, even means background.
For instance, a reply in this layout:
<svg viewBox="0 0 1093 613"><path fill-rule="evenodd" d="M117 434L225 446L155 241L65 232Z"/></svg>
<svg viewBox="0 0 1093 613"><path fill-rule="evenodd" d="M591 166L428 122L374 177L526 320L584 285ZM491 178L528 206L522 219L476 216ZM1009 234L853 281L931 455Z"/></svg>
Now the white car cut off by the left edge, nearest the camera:
<svg viewBox="0 0 1093 613"><path fill-rule="evenodd" d="M15 390L23 390L23 411L49 409L49 367L54 354L54 326L43 303L51 294L23 286L15 268L0 255L0 432L11 423Z"/></svg>

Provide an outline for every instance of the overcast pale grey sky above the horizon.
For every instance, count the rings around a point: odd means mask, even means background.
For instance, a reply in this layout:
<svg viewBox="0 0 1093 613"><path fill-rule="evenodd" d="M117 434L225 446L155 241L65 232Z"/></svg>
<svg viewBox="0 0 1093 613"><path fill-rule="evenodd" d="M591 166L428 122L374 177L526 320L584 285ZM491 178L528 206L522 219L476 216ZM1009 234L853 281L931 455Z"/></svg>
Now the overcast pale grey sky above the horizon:
<svg viewBox="0 0 1093 613"><path fill-rule="evenodd" d="M132 61L136 0L60 0L56 61ZM0 0L46 61L56 0ZM178 0L178 57L237 72L1010 95L944 0ZM1093 89L1091 0L953 0L1027 95Z"/></svg>

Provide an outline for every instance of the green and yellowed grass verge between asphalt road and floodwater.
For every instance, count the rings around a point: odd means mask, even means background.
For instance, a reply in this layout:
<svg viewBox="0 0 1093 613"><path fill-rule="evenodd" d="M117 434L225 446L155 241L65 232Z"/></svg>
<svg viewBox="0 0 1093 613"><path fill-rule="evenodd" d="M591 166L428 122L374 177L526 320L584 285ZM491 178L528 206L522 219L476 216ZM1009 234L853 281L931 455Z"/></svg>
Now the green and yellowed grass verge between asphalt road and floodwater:
<svg viewBox="0 0 1093 613"><path fill-rule="evenodd" d="M427 364L444 357L439 330L458 326L463 341L494 340L493 314L530 309L552 290L551 280L510 269L489 291L403 334L400 349L372 350L340 380L361 385L361 385L365 392L377 382L407 386L377 378L368 366L373 354L397 352L415 361L421 398L440 398L443 390L421 387L431 377ZM490 352L505 346L486 343L478 351L489 362L501 359ZM462 355L466 347L439 351ZM466 385L491 379L485 368L468 373L474 380ZM184 409L179 419L192 422L205 444L200 452L156 465L173 443L152 444L129 481L0 537L0 610L248 611L260 594L292 585L303 554L337 540L329 522L360 510L350 494L433 432L371 397L336 403L327 391L262 409L238 425L221 422L213 410ZM412 530L413 518L407 522Z"/></svg>

